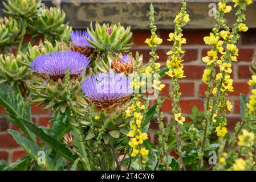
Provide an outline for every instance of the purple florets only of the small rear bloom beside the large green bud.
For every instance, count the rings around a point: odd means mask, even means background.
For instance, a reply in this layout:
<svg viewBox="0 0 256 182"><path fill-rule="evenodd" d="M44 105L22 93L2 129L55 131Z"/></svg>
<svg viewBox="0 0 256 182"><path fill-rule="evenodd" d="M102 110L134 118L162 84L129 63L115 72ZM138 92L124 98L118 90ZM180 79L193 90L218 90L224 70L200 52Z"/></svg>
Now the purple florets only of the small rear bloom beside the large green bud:
<svg viewBox="0 0 256 182"><path fill-rule="evenodd" d="M72 43L75 44L75 46L78 46L78 47L92 46L92 44L87 40L89 39L92 41L92 38L86 30L72 31L70 34L70 37L71 37Z"/></svg>

